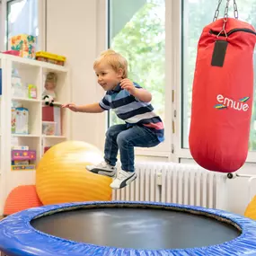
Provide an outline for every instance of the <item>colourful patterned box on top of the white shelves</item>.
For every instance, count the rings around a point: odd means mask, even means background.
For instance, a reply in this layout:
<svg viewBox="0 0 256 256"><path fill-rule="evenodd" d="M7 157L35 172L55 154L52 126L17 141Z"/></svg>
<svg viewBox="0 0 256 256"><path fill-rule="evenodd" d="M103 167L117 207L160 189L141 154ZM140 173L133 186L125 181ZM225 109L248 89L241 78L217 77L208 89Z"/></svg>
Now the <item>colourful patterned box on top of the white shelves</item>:
<svg viewBox="0 0 256 256"><path fill-rule="evenodd" d="M21 34L11 38L11 49L18 50L20 57L35 58L36 38L31 35Z"/></svg>

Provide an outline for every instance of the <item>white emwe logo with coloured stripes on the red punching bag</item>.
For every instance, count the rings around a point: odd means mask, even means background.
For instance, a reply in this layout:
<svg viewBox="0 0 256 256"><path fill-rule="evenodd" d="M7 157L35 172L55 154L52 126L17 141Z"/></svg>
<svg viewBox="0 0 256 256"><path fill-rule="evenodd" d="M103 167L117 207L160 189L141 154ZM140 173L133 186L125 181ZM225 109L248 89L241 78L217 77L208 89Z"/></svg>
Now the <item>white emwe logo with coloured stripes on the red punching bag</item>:
<svg viewBox="0 0 256 256"><path fill-rule="evenodd" d="M234 100L224 97L222 94L218 94L216 96L216 101L220 104L216 104L215 108L218 110L234 109L238 111L247 111L249 110L249 105L245 102L247 102L249 99L250 97L244 97L238 102L235 102Z"/></svg>

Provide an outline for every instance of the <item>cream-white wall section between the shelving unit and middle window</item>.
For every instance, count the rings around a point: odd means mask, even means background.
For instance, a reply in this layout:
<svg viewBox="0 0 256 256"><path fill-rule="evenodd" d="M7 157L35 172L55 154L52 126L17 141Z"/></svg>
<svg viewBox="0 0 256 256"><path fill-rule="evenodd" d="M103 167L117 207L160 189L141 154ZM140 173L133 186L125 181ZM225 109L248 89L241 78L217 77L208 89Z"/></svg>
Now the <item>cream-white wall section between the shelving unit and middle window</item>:
<svg viewBox="0 0 256 256"><path fill-rule="evenodd" d="M48 0L46 50L67 57L71 68L72 99L77 104L99 102L103 92L96 83L93 61L104 49L104 27L97 16L104 19L103 1ZM102 146L104 113L72 114L73 139Z"/></svg>

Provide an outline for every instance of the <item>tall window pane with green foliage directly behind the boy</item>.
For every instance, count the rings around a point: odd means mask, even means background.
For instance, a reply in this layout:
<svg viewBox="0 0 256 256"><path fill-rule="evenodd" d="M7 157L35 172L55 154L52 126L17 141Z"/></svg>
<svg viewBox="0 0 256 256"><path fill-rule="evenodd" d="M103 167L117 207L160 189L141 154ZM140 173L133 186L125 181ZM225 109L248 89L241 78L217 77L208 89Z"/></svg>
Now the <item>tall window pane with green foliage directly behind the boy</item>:
<svg viewBox="0 0 256 256"><path fill-rule="evenodd" d="M110 0L110 48L128 60L128 78L153 95L164 121L165 1ZM110 113L110 125L121 123Z"/></svg>

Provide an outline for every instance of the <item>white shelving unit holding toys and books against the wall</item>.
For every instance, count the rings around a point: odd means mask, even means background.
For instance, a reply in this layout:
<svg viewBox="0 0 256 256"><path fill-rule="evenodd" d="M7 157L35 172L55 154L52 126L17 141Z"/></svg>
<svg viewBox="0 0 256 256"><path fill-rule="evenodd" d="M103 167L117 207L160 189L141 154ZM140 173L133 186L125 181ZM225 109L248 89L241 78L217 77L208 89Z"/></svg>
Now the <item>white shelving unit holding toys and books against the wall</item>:
<svg viewBox="0 0 256 256"><path fill-rule="evenodd" d="M35 170L12 171L12 146L29 146L36 150L34 164L40 162L44 154L43 146L54 146L59 142L70 139L70 111L61 110L62 133L58 136L42 134L41 94L44 90L44 78L49 72L57 74L57 105L70 102L70 79L65 66L57 66L29 58L0 54L2 68L2 95L0 96L0 215L3 214L4 202L9 192L19 185L34 184ZM24 84L37 86L37 98L13 97L12 70L16 68ZM20 104L29 110L29 133L12 133L12 106Z"/></svg>

